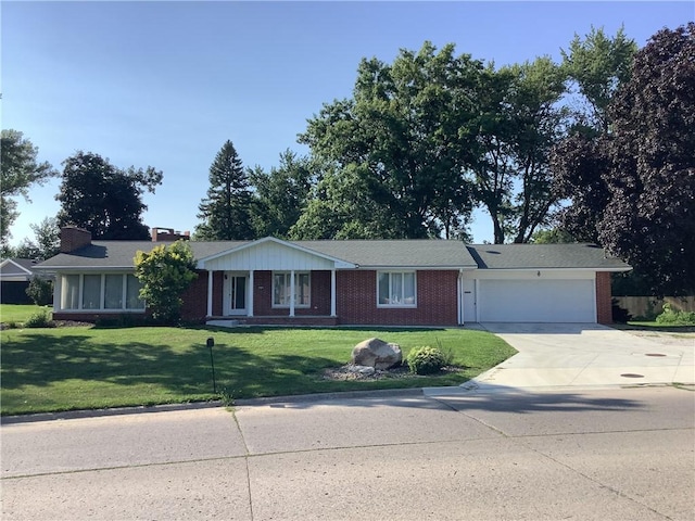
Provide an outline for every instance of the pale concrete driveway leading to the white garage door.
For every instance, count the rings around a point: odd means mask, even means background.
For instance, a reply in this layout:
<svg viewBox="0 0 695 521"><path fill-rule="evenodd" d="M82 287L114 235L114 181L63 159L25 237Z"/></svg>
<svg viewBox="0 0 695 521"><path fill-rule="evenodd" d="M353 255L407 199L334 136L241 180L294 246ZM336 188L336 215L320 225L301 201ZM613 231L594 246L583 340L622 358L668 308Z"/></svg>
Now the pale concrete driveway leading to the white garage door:
<svg viewBox="0 0 695 521"><path fill-rule="evenodd" d="M596 323L482 323L519 353L468 389L695 383L695 335L650 338Z"/></svg>

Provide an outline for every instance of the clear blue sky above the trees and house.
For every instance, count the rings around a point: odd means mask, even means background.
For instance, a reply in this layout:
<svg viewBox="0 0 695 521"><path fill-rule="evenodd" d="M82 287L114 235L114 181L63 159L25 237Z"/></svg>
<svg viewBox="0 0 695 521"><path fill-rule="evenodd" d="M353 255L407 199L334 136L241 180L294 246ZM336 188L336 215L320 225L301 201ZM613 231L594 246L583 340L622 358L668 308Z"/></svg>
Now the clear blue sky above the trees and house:
<svg viewBox="0 0 695 521"><path fill-rule="evenodd" d="M78 150L164 173L148 226L193 230L207 170L229 139L245 166L306 153L296 135L349 97L362 58L438 48L498 65L560 59L573 35L624 25L640 47L695 20L680 2L12 2L1 4L2 128L58 169ZM12 243L54 216L59 180L20 200ZM491 241L483 212L476 242Z"/></svg>

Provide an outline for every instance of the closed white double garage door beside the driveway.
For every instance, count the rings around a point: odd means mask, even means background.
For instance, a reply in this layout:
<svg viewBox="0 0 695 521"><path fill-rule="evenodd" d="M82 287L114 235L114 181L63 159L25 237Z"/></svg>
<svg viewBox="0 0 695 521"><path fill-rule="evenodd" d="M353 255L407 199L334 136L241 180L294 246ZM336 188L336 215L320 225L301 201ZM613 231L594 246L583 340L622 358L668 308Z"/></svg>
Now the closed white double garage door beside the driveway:
<svg viewBox="0 0 695 521"><path fill-rule="evenodd" d="M594 281L481 280L481 322L595 322Z"/></svg>

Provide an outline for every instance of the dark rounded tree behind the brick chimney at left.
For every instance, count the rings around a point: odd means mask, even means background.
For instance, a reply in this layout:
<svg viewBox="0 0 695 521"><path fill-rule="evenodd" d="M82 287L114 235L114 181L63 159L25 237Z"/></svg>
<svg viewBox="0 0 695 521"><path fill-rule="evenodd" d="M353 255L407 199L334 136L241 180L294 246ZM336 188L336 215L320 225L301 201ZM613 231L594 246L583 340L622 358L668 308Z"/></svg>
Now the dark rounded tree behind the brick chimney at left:
<svg viewBox="0 0 695 521"><path fill-rule="evenodd" d="M59 226L74 225L89 230L94 239L146 240L149 228L142 223L147 206L144 190L154 193L162 173L121 169L91 152L77 152L63 162L58 213Z"/></svg>

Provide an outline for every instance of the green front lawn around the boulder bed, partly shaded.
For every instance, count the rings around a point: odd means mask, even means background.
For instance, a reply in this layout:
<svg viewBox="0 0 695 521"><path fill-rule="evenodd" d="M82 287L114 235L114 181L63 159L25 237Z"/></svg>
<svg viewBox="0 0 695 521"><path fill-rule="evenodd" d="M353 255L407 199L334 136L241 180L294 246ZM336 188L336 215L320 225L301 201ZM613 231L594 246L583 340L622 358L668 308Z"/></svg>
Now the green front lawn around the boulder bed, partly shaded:
<svg viewBox="0 0 695 521"><path fill-rule="evenodd" d="M217 394L207 338L213 336ZM438 377L328 381L325 368L378 336L410 348L438 346L464 368ZM11 329L2 341L2 415L353 390L457 385L515 352L462 329L58 328Z"/></svg>

